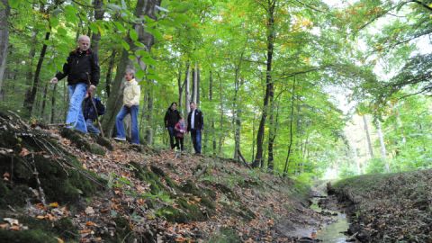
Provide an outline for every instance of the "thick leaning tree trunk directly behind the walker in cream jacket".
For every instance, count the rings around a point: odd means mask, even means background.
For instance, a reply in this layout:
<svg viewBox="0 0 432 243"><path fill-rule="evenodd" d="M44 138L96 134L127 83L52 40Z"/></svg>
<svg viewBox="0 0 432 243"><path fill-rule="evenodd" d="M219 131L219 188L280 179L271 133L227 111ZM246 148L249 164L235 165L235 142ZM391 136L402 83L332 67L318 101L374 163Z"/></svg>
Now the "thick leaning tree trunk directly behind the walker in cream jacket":
<svg viewBox="0 0 432 243"><path fill-rule="evenodd" d="M147 15L151 19L156 20L156 12L157 8L156 5L160 5L161 0L157 1L150 1L150 0L139 0L136 5L135 9L135 16L138 18L143 18L144 15ZM146 50L149 52L151 47L154 44L154 37L149 32L144 30L143 24L135 25L135 30L139 34L139 42L143 43L145 45ZM129 35L128 35L129 36ZM133 41L130 40L128 37L126 41L130 44L130 50L136 50L138 47L133 45ZM140 57L137 57L137 61L139 63L139 66L144 69L145 64L140 61ZM108 99L107 105L106 105L106 113L103 116L103 131L106 136L111 137L112 131L115 124L115 117L117 112L119 112L121 105L122 105L122 89L121 89L121 83L123 81L124 72L126 71L127 67L133 67L133 63L131 63L129 59L129 52L126 49L123 49L121 53L121 59L119 61L119 65L117 66L117 72L114 78L114 82L112 85L112 93L110 94L110 98Z"/></svg>

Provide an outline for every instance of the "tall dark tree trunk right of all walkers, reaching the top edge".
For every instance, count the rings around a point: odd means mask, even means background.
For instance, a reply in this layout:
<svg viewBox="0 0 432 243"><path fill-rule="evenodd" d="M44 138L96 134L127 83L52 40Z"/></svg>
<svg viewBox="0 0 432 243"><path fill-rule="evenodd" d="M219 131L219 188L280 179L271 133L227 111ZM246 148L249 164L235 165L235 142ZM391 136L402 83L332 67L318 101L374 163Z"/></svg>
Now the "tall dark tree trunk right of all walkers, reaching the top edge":
<svg viewBox="0 0 432 243"><path fill-rule="evenodd" d="M267 65L266 65L266 95L264 97L263 113L261 114L261 121L259 121L257 132L257 155L252 163L253 167L258 167L263 164L263 141L266 126L266 118L268 112L268 100L274 94L274 85L272 80L272 62L273 62L273 49L275 44L275 1L268 1L267 11Z"/></svg>

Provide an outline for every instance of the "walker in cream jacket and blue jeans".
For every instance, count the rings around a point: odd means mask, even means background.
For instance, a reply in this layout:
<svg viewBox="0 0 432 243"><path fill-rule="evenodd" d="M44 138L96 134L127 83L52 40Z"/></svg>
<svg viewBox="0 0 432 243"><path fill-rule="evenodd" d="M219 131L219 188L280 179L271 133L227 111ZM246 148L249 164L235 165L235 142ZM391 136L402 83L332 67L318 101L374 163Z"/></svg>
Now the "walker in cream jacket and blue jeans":
<svg viewBox="0 0 432 243"><path fill-rule="evenodd" d="M117 130L116 140L125 141L126 132L124 131L123 119L130 113L132 144L139 144L139 130L138 130L138 111L139 111L139 98L141 96L141 89L138 82L135 80L135 71L127 69L124 76L126 79L125 87L123 90L123 106L115 118L115 128Z"/></svg>

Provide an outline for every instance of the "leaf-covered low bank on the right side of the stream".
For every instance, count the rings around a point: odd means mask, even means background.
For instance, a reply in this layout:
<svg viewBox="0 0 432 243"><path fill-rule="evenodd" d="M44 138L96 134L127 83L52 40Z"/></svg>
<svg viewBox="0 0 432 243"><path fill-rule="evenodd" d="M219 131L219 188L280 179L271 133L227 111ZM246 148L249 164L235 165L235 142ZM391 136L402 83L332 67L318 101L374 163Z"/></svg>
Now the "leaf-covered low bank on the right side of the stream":
<svg viewBox="0 0 432 243"><path fill-rule="evenodd" d="M362 242L432 242L432 170L359 175L330 186Z"/></svg>

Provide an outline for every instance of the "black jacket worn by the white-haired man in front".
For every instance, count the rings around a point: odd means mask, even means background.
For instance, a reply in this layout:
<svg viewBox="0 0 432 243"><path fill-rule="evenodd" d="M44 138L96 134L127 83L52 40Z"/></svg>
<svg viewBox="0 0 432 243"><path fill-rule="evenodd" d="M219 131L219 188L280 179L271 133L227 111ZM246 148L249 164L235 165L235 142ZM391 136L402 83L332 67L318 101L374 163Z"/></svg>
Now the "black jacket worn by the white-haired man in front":
<svg viewBox="0 0 432 243"><path fill-rule="evenodd" d="M87 73L90 76L90 83L97 85L100 76L99 61L96 53L91 49L81 52L75 49L69 53L66 63L63 65L63 72L58 72L56 77L61 80L67 76L67 85L78 83L88 84Z"/></svg>

